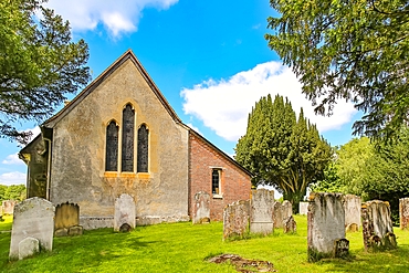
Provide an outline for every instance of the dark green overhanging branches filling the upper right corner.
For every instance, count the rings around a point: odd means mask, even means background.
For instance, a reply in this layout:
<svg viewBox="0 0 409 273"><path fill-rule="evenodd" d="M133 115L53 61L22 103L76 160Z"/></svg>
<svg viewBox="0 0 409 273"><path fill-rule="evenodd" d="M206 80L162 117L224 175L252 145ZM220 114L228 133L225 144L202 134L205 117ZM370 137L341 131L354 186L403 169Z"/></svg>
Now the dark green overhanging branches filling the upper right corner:
<svg viewBox="0 0 409 273"><path fill-rule="evenodd" d="M319 114L337 98L365 115L356 134L392 136L409 119L409 4L403 0L270 0L269 46Z"/></svg>

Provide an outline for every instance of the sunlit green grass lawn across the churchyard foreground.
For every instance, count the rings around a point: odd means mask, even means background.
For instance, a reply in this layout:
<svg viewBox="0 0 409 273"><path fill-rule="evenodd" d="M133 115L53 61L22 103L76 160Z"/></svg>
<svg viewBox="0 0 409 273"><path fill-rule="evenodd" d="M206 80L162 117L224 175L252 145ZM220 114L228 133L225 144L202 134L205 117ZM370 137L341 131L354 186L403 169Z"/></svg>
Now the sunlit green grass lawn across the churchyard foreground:
<svg viewBox="0 0 409 273"><path fill-rule="evenodd" d="M348 233L352 259L308 263L306 217L296 216L297 233L222 242L221 222L138 227L130 233L112 229L85 231L75 238L54 238L53 251L9 262L10 233L0 233L1 272L235 272L230 264L207 258L221 253L270 261L279 272L407 272L409 232L395 230L398 249L365 253L361 232ZM0 230L6 222L0 222Z"/></svg>

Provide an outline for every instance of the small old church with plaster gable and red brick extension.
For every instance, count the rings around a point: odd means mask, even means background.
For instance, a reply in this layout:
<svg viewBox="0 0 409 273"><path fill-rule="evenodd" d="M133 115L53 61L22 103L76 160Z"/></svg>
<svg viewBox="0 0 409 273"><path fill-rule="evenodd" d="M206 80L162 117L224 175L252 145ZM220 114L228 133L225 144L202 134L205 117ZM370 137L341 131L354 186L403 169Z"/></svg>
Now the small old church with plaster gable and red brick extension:
<svg viewBox="0 0 409 273"><path fill-rule="evenodd" d="M251 195L251 174L181 122L130 50L40 127L19 154L28 198L77 203L84 229L113 227L122 193L137 224L190 220L200 191L222 220Z"/></svg>

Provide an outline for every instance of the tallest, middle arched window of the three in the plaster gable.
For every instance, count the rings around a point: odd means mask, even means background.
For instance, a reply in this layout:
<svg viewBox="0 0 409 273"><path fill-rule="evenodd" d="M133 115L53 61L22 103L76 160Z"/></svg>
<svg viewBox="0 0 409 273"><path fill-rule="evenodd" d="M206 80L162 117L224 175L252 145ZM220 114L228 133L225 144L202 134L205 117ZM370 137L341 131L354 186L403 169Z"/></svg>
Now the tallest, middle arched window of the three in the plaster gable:
<svg viewBox="0 0 409 273"><path fill-rule="evenodd" d="M135 111L127 104L123 111L122 171L134 171Z"/></svg>

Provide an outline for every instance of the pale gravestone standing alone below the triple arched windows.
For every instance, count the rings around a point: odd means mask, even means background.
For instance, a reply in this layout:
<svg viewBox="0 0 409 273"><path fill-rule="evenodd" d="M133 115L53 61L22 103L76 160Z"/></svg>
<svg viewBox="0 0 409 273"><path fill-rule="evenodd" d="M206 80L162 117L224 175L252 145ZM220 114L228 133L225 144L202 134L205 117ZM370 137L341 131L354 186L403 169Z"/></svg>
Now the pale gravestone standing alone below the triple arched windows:
<svg viewBox="0 0 409 273"><path fill-rule="evenodd" d="M127 193L122 193L115 200L114 231L130 231L135 229L135 202Z"/></svg>

